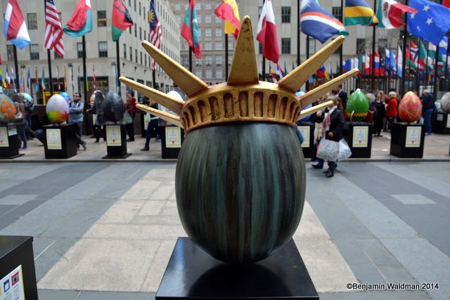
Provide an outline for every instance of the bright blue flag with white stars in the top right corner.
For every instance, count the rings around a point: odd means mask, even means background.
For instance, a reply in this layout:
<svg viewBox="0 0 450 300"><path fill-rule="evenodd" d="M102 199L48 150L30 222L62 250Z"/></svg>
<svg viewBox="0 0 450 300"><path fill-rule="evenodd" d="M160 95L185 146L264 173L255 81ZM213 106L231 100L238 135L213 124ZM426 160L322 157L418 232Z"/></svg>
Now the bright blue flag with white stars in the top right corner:
<svg viewBox="0 0 450 300"><path fill-rule="evenodd" d="M450 9L427 0L411 0L418 13L408 14L409 33L437 45L450 30Z"/></svg>

